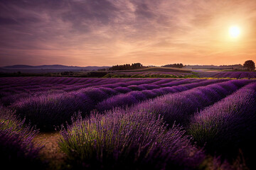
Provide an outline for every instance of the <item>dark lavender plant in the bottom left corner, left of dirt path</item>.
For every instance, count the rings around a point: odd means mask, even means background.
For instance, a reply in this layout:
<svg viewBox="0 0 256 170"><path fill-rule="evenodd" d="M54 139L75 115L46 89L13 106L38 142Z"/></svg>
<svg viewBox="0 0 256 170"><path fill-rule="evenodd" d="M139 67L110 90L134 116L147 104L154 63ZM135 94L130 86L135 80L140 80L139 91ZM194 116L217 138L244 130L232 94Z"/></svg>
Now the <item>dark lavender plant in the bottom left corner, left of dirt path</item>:
<svg viewBox="0 0 256 170"><path fill-rule="evenodd" d="M13 112L0 111L0 162L8 169L43 169L40 161L41 147L34 145L33 137L38 133L24 121L18 120Z"/></svg>

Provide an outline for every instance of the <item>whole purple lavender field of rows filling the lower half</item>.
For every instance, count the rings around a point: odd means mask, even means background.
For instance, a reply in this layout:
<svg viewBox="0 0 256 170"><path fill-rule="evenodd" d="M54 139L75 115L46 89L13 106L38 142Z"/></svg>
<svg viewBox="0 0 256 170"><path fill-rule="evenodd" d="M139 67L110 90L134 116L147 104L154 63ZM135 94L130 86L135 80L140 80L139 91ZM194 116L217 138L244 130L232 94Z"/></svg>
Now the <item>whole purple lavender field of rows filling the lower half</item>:
<svg viewBox="0 0 256 170"><path fill-rule="evenodd" d="M256 168L255 79L4 77L0 109L9 168Z"/></svg>

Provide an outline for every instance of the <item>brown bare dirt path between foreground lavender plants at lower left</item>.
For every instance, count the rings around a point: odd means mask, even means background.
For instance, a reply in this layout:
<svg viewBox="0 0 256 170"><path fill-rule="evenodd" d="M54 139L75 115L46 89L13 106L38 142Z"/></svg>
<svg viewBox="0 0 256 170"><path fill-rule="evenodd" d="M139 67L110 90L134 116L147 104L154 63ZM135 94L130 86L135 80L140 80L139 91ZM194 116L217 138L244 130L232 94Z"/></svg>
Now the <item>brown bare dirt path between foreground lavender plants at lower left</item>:
<svg viewBox="0 0 256 170"><path fill-rule="evenodd" d="M61 169L65 162L65 153L61 152L58 147L59 132L41 132L34 137L34 142L44 145L40 154L43 160L46 160L50 169Z"/></svg>

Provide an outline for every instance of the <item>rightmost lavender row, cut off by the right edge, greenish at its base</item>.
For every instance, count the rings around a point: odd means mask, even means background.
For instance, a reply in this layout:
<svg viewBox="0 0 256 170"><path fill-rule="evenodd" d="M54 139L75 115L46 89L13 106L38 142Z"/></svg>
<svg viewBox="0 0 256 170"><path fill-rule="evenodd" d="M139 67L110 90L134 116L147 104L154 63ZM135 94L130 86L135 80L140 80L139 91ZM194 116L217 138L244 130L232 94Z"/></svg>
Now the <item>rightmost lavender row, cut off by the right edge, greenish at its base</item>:
<svg viewBox="0 0 256 170"><path fill-rule="evenodd" d="M191 119L188 132L211 154L234 157L238 149L255 154L256 83L248 84Z"/></svg>

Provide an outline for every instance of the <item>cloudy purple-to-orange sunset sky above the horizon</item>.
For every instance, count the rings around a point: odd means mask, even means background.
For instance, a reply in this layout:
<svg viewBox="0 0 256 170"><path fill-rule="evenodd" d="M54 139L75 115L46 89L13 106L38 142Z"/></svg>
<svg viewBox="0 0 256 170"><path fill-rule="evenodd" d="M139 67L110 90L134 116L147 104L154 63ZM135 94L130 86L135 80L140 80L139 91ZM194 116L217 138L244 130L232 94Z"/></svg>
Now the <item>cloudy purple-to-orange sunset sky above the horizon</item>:
<svg viewBox="0 0 256 170"><path fill-rule="evenodd" d="M0 66L246 60L256 62L255 0L0 0Z"/></svg>

